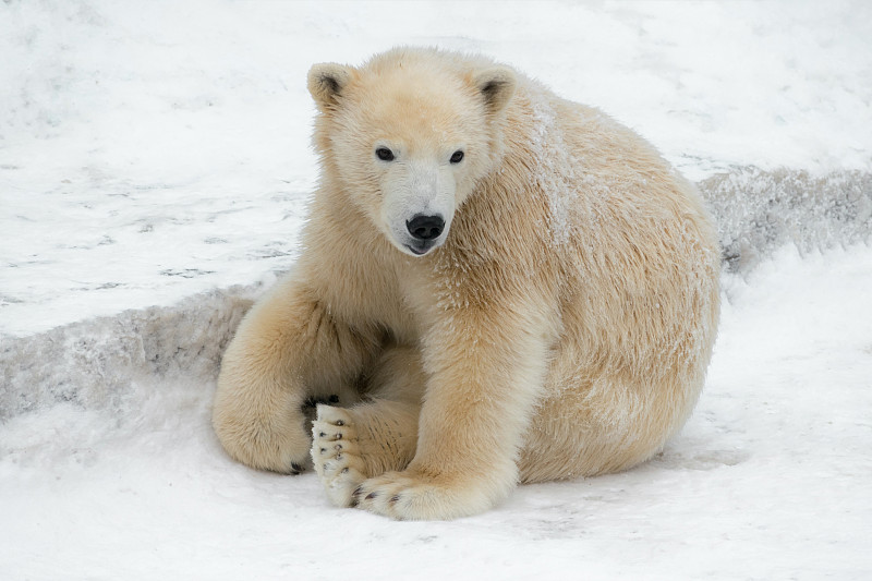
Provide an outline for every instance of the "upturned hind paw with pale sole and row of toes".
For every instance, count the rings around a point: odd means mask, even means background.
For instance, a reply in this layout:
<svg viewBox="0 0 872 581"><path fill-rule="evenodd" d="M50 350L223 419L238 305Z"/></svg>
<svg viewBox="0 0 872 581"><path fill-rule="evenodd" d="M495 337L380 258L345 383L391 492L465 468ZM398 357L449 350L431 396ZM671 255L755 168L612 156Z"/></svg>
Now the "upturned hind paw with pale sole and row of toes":
<svg viewBox="0 0 872 581"><path fill-rule="evenodd" d="M348 410L318 406L312 422L312 461L330 501L338 507L353 506L353 493L366 480L366 467Z"/></svg>

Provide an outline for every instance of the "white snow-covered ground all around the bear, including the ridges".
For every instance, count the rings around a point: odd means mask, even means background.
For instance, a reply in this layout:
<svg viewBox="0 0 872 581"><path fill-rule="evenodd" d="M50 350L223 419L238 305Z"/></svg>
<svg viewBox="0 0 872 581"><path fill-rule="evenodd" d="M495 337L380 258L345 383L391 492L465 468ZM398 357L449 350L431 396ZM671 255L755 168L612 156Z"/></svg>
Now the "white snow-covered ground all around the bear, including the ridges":
<svg viewBox="0 0 872 581"><path fill-rule="evenodd" d="M633 126L725 246L664 453L455 522L228 460L221 349L294 259L314 62L492 55ZM0 3L0 579L872 576L872 7Z"/></svg>

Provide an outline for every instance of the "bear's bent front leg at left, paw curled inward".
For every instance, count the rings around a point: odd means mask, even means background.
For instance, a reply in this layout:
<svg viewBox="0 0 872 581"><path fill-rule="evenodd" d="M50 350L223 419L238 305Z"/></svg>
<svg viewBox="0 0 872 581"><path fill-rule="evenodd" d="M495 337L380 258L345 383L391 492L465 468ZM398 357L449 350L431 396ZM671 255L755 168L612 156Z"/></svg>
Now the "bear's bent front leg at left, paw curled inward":
<svg viewBox="0 0 872 581"><path fill-rule="evenodd" d="M213 426L225 449L253 468L303 470L307 403L335 394L351 401L379 343L377 331L334 317L304 282L276 287L242 320L221 362Z"/></svg>

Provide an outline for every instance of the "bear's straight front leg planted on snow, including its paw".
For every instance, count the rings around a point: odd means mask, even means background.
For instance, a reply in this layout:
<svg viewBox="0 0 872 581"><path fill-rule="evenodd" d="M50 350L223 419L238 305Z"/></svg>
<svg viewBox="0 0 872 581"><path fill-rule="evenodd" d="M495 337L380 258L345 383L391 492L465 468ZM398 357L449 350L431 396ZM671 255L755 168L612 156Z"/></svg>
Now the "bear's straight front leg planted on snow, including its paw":
<svg viewBox="0 0 872 581"><path fill-rule="evenodd" d="M364 481L359 508L400 520L452 519L509 495L547 372L546 319L536 315L518 301L505 311L447 310L422 358L431 376L415 456L401 471Z"/></svg>

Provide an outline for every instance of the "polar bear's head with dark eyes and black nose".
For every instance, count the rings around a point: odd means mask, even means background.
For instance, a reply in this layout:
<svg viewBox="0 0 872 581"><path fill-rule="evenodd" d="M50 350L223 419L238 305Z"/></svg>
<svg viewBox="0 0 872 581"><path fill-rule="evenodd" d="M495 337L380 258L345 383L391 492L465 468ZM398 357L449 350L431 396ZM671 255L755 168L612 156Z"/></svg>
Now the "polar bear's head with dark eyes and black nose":
<svg viewBox="0 0 872 581"><path fill-rule="evenodd" d="M502 156L514 73L436 50L395 49L360 69L314 65L315 146L339 187L401 252L441 245Z"/></svg>

